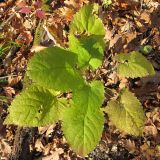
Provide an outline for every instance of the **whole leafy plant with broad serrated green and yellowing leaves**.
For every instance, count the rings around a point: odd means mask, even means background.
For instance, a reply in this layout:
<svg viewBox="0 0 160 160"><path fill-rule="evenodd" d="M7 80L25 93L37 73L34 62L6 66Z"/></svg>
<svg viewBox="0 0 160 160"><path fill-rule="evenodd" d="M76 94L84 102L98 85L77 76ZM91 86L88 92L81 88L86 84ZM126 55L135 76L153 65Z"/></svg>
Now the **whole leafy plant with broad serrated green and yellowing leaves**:
<svg viewBox="0 0 160 160"><path fill-rule="evenodd" d="M101 138L103 111L108 113L113 124L130 134L141 135L144 124L141 104L132 93L124 89L119 99L110 101L109 107L102 110L105 98L103 82L87 78L86 70L96 70L101 66L105 49L104 26L94 11L94 5L86 5L74 16L70 25L69 48L46 48L30 60L26 76L32 80L32 85L15 98L5 120L6 124L19 126L44 126L61 120L65 138L81 156L90 153ZM130 54L119 55L116 59L119 63L129 63L134 53ZM135 54L133 57L137 55L140 56ZM149 62L144 57L141 60L142 68L145 68ZM119 73L126 76L122 68L119 67ZM146 70L142 76L154 72L149 67ZM138 72L134 76L141 74ZM71 98L62 96L64 92L71 94ZM121 118L119 114L126 116L122 116L123 121L128 118L125 125L117 123L117 118L119 121ZM132 131L133 125L136 128Z"/></svg>

